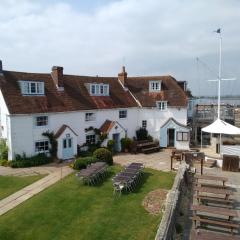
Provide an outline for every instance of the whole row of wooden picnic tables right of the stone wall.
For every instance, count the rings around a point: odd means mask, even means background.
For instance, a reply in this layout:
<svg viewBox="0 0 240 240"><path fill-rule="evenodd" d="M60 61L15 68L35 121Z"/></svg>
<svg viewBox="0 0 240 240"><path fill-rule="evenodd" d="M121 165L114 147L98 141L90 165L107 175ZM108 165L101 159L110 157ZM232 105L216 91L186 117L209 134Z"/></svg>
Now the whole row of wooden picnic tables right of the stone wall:
<svg viewBox="0 0 240 240"><path fill-rule="evenodd" d="M233 235L238 233L240 225L236 221L234 190L226 185L228 178L196 174L194 179L191 239L235 239Z"/></svg>

